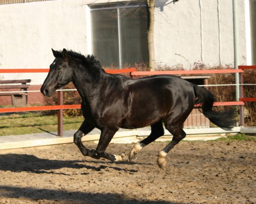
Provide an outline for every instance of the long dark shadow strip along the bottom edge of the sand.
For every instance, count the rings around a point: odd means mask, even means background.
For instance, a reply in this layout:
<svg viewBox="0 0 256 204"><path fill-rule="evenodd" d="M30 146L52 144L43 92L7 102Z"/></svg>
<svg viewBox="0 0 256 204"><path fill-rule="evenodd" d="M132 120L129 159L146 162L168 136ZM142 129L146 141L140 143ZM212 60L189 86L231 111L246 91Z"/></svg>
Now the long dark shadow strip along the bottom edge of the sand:
<svg viewBox="0 0 256 204"><path fill-rule="evenodd" d="M29 187L0 186L0 192L2 199L5 197L18 198L23 201L47 200L49 202L54 201L55 204L182 204L169 201L137 200L126 198L124 195L116 193L69 192L65 190L35 189Z"/></svg>

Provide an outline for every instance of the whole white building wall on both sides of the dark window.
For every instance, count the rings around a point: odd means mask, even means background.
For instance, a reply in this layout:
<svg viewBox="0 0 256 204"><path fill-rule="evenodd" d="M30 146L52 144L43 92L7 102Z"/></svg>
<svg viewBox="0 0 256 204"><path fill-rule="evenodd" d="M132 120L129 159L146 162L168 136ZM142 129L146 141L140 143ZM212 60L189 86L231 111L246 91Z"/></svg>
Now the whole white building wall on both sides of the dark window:
<svg viewBox="0 0 256 204"><path fill-rule="evenodd" d="M0 5L0 68L48 68L53 60L51 48L87 54L86 4L95 2L107 0ZM245 64L243 0L239 9L240 64ZM156 0L154 44L157 65L186 69L195 62L233 65L232 0L180 0L175 4ZM0 74L0 79L32 79L31 84L42 84L46 75Z"/></svg>

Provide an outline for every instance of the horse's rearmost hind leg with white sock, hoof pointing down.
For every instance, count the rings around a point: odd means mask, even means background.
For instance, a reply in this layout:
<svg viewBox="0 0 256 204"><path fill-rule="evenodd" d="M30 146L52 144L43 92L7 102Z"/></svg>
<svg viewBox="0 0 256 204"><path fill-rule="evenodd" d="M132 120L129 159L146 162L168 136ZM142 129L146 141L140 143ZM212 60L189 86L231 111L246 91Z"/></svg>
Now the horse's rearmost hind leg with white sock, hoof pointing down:
<svg viewBox="0 0 256 204"><path fill-rule="evenodd" d="M170 133L172 133L173 138L172 141L166 145L166 147L163 148L159 152L158 158L157 158L157 164L160 168L163 168L166 166L166 155L167 153L182 140L185 138L186 133L182 129L182 126L169 126L166 125L166 129L169 130Z"/></svg>

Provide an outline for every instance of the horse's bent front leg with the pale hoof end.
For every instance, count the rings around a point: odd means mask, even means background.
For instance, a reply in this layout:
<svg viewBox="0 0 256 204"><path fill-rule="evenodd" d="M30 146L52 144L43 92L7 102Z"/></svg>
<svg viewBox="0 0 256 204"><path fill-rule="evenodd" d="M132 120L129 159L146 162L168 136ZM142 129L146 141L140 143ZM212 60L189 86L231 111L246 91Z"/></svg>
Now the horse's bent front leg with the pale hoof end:
<svg viewBox="0 0 256 204"><path fill-rule="evenodd" d="M105 150L108 147L108 144L111 142L116 130L110 128L104 128L100 134L99 143L96 148L96 154L102 158L111 160L111 161L128 161L128 157L125 154L113 155L106 153Z"/></svg>

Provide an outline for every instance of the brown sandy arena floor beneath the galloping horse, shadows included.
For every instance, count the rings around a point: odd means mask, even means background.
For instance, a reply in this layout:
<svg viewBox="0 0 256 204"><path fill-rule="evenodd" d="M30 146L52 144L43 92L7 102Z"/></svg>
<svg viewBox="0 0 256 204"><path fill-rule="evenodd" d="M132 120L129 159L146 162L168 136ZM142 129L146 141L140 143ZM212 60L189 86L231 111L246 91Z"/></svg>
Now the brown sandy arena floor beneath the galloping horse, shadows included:
<svg viewBox="0 0 256 204"><path fill-rule="evenodd" d="M180 142L160 169L165 145L149 144L132 164L84 157L75 144L2 150L0 204L256 204L256 142Z"/></svg>

